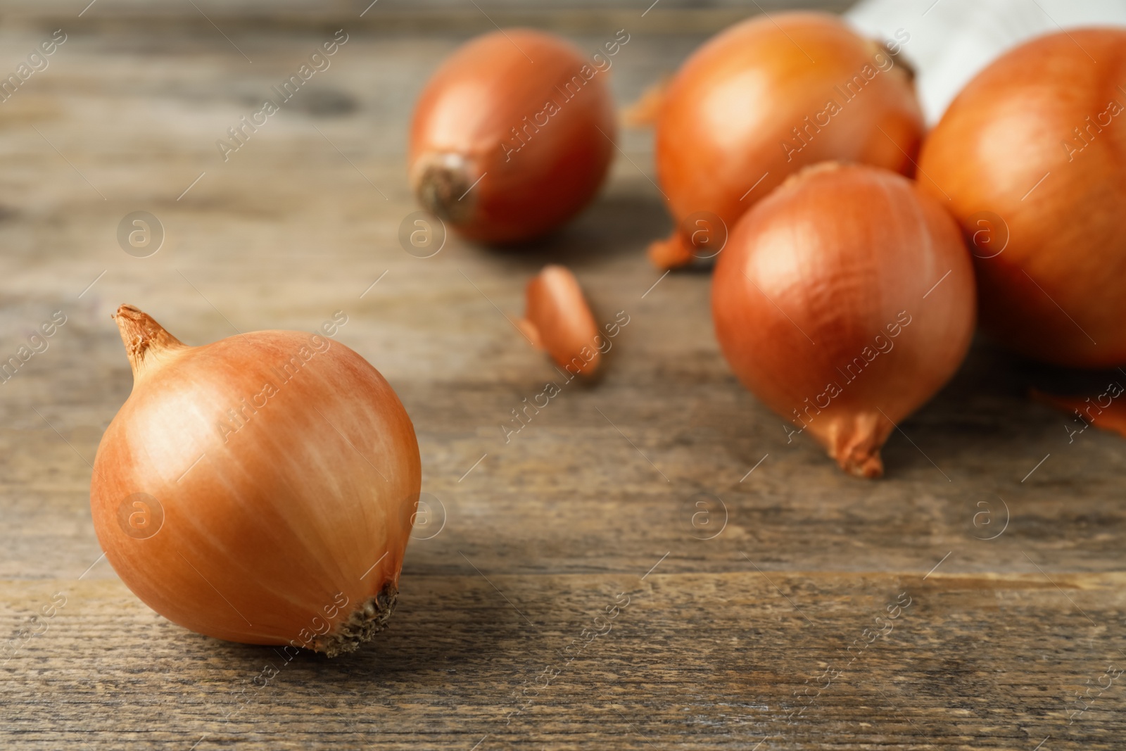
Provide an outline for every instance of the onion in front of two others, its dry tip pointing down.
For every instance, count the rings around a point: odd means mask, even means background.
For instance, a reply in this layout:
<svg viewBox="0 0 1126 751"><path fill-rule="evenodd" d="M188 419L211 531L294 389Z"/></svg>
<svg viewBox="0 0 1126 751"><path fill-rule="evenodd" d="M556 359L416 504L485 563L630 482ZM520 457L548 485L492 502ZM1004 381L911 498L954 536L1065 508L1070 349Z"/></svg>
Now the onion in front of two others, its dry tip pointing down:
<svg viewBox="0 0 1126 751"><path fill-rule="evenodd" d="M965 358L974 313L954 220L913 181L863 166L790 178L740 220L712 283L735 375L790 440L807 428L866 477L883 474L895 424Z"/></svg>

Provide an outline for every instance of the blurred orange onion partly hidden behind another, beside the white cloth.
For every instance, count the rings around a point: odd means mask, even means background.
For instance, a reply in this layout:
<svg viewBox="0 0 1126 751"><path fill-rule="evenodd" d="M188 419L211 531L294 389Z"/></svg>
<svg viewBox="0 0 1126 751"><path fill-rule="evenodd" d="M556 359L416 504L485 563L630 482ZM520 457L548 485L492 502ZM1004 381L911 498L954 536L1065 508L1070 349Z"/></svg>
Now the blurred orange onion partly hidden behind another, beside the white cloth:
<svg viewBox="0 0 1126 751"><path fill-rule="evenodd" d="M707 212L732 227L808 164L909 175L921 137L910 71L837 17L789 12L733 26L688 59L661 105L656 169L678 230L650 258L662 268L691 261L688 217Z"/></svg>

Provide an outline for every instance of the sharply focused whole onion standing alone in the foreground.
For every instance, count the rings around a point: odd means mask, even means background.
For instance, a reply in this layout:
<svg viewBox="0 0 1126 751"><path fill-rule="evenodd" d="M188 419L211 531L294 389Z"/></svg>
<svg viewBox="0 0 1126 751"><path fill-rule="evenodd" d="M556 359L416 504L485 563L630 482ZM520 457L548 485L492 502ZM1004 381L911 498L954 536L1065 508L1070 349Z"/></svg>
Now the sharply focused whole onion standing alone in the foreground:
<svg viewBox="0 0 1126 751"><path fill-rule="evenodd" d="M324 337L187 347L135 307L116 319L134 384L98 446L90 504L125 584L233 642L331 656L383 628L421 484L413 426L383 376ZM162 509L151 536L120 521L134 493Z"/></svg>

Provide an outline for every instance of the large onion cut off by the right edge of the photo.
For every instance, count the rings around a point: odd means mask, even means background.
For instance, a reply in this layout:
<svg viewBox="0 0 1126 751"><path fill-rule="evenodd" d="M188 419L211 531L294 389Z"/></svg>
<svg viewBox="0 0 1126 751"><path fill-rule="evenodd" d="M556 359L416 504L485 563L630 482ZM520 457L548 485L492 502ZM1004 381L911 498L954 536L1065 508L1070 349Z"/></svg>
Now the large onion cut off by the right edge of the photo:
<svg viewBox="0 0 1126 751"><path fill-rule="evenodd" d="M1123 87L1126 29L1039 37L978 73L920 154L920 184L993 243L972 248L982 328L1037 360L1126 364Z"/></svg>

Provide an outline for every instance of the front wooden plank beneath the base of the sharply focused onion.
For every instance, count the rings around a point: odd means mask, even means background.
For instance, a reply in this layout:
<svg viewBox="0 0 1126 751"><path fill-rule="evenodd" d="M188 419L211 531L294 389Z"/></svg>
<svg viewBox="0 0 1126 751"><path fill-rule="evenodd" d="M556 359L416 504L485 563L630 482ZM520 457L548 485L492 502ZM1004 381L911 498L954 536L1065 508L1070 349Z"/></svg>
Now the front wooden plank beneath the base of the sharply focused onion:
<svg viewBox="0 0 1126 751"><path fill-rule="evenodd" d="M172 626L118 582L8 583L6 600L68 600L6 665L0 732L275 749L1114 749L1124 732L1117 676L1069 714L1123 665L1121 574L643 574L413 576L369 649L289 662Z"/></svg>

